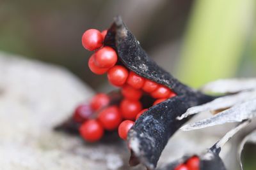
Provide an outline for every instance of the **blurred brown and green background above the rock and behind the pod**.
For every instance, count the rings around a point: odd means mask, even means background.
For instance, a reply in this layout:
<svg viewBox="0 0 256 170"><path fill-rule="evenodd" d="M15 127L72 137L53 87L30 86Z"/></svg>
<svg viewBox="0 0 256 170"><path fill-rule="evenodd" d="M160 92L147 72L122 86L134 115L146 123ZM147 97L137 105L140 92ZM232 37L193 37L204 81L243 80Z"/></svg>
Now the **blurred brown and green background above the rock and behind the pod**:
<svg viewBox="0 0 256 170"><path fill-rule="evenodd" d="M67 67L102 91L109 88L106 76L89 71L92 53L81 36L108 29L116 15L160 66L188 85L256 76L255 0L1 0L0 50ZM246 169L255 169L253 159Z"/></svg>

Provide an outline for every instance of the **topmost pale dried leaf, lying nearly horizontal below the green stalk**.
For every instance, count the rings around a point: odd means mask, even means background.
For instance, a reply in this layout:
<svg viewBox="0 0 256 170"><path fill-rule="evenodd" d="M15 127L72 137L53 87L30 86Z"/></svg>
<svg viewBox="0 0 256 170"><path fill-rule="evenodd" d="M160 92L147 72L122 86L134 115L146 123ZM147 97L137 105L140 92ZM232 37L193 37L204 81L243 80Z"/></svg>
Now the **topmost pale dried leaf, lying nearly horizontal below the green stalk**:
<svg viewBox="0 0 256 170"><path fill-rule="evenodd" d="M243 90L256 89L256 78L234 78L217 80L202 87L202 92L235 93Z"/></svg>

